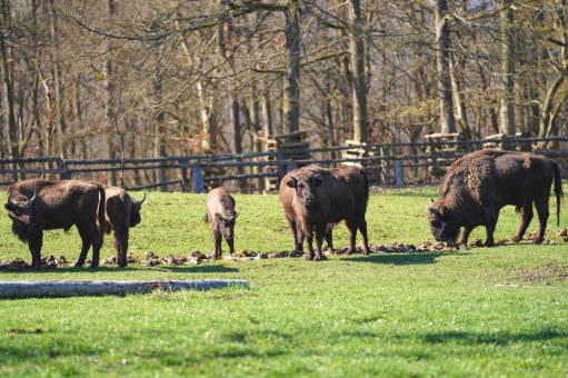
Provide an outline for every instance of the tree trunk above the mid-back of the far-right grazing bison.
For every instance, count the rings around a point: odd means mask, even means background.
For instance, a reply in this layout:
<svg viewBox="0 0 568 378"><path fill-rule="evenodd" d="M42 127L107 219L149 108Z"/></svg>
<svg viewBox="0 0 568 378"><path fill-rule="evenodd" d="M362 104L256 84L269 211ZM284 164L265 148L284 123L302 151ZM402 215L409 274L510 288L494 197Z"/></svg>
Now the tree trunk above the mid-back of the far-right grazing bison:
<svg viewBox="0 0 568 378"><path fill-rule="evenodd" d="M514 0L501 0L501 106L500 132L515 136L515 14Z"/></svg>

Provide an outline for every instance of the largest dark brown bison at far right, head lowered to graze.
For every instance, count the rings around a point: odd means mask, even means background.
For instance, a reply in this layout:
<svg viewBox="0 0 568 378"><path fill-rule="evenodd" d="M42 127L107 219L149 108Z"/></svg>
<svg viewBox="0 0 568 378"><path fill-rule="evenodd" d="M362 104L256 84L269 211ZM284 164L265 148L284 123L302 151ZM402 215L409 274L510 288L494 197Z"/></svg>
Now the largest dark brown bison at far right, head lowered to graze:
<svg viewBox="0 0 568 378"><path fill-rule="evenodd" d="M428 220L436 240L454 243L464 227L461 243L471 230L485 226L486 246L492 246L499 210L514 205L521 222L514 240L522 239L532 219L532 203L540 228L535 242L545 237L550 187L555 183L557 218L562 187L558 165L529 152L481 150L456 160L444 177L440 198L428 208ZM558 220L559 221L559 220Z"/></svg>

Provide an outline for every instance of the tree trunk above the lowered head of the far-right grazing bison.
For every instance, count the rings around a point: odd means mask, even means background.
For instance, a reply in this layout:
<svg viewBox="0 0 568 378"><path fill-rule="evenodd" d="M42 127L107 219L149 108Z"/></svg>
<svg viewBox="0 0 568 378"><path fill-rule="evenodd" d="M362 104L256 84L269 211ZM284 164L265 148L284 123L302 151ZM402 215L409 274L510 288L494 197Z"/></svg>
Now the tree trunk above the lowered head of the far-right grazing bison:
<svg viewBox="0 0 568 378"><path fill-rule="evenodd" d="M450 32L448 27L448 1L436 0L436 62L438 68L438 98L440 106L440 131L456 132L454 101L449 67Z"/></svg>

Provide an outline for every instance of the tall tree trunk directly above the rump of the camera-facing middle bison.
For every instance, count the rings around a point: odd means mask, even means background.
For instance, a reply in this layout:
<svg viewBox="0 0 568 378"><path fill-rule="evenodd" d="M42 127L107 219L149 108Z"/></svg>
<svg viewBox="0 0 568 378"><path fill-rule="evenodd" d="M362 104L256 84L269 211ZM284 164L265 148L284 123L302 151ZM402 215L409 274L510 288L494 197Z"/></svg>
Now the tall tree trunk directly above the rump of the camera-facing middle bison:
<svg viewBox="0 0 568 378"><path fill-rule="evenodd" d="M349 20L351 34L349 53L351 56L353 140L367 142L367 84L365 76L365 32L362 30L360 0L350 0Z"/></svg>

